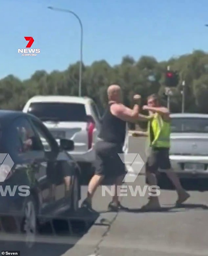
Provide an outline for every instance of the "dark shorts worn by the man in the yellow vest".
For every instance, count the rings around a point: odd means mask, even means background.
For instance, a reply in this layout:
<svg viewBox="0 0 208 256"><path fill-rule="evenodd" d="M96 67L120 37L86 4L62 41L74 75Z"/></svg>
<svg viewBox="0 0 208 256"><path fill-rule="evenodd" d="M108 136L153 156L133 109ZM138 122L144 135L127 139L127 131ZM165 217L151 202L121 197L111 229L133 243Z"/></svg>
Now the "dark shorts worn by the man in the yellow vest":
<svg viewBox="0 0 208 256"><path fill-rule="evenodd" d="M146 162L146 170L156 173L158 168L162 170L171 168L169 148L151 148Z"/></svg>

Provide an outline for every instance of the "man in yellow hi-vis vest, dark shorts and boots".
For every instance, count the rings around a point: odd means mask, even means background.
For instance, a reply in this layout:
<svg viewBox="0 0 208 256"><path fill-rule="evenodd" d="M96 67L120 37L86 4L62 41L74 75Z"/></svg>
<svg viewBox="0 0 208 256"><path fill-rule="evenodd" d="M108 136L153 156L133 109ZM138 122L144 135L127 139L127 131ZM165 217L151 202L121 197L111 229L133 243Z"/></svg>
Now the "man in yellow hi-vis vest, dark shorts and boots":
<svg viewBox="0 0 208 256"><path fill-rule="evenodd" d="M156 172L160 168L165 172L168 178L175 185L178 199L176 204L181 204L187 200L190 195L181 186L177 174L173 172L169 159L170 149L170 113L166 107L159 103L157 95L150 95L147 99L147 105L143 106L144 110L149 110L149 116L139 114L139 119L148 121L150 154L146 162L146 175L148 184L157 185ZM149 202L144 205L143 209L160 208L157 196L149 198Z"/></svg>

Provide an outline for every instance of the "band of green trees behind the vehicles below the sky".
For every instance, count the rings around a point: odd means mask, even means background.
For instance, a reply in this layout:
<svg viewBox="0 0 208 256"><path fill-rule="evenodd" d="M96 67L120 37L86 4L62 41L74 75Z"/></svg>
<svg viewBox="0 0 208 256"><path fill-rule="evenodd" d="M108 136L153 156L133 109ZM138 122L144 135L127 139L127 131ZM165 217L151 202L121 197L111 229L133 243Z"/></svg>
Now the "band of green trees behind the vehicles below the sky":
<svg viewBox="0 0 208 256"><path fill-rule="evenodd" d="M178 87L174 88L170 106L172 112L181 111L181 83L186 81L185 111L208 113L208 54L195 50L192 54L157 62L154 57L142 56L135 61L125 56L120 65L111 67L105 60L95 61L82 67L82 95L92 98L101 113L107 103L106 90L110 84L123 89L124 102L133 105L133 95L142 96L142 104L152 93L164 93L167 66L179 73ZM21 81L13 75L0 80L1 109L21 110L34 95L78 95L79 63L70 65L66 71L36 71L30 79ZM167 104L166 100L163 100Z"/></svg>

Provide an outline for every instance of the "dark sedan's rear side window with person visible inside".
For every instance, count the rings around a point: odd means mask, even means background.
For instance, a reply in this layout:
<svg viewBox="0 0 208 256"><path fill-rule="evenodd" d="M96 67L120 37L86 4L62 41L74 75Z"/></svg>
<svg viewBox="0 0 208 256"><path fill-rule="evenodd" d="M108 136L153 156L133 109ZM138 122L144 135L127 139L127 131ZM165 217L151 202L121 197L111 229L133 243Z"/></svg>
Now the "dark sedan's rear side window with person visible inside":
<svg viewBox="0 0 208 256"><path fill-rule="evenodd" d="M24 117L18 117L13 121L9 129L9 137L8 146L19 154L42 150L30 122Z"/></svg>

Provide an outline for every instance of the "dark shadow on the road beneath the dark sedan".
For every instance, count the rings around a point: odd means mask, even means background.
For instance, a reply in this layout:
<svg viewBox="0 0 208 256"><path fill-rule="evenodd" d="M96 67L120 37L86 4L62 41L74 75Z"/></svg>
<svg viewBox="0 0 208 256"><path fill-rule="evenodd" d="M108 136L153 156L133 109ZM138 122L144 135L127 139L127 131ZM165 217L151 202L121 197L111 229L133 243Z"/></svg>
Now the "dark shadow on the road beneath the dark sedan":
<svg viewBox="0 0 208 256"><path fill-rule="evenodd" d="M60 256L72 248L92 227L99 213L85 213L82 209L76 216L56 218L46 222L35 236L35 244L26 247L24 234L0 232L1 250L19 250L21 256Z"/></svg>

